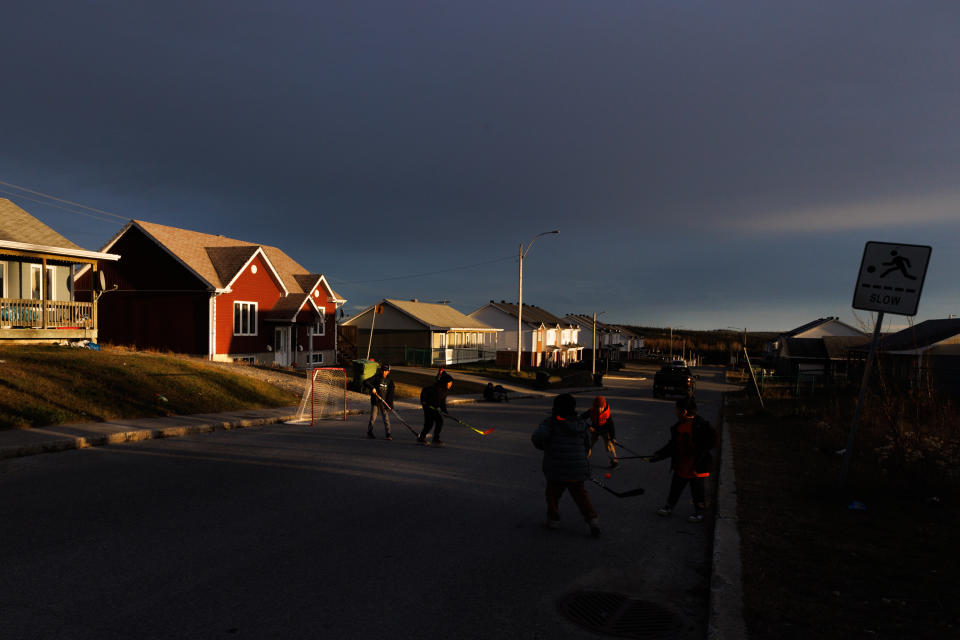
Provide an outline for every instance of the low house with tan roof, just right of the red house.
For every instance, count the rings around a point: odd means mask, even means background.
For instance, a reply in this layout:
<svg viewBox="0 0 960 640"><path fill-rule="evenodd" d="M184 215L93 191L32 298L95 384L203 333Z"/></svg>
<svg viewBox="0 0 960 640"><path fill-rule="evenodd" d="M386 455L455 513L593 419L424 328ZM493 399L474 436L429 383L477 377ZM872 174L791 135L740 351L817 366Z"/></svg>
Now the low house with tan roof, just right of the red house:
<svg viewBox="0 0 960 640"><path fill-rule="evenodd" d="M359 356L424 366L493 360L500 332L449 304L386 298L341 324L356 327Z"/></svg>

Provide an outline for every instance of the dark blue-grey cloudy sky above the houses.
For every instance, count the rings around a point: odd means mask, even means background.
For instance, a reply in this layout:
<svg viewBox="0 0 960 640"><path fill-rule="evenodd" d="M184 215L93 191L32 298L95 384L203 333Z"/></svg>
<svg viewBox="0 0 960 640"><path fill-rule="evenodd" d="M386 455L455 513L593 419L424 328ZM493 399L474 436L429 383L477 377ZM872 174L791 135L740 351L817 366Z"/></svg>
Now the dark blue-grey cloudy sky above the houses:
<svg viewBox="0 0 960 640"><path fill-rule="evenodd" d="M515 300L519 245L559 229L524 261L558 315L855 323L868 240L932 245L916 320L960 314L955 0L13 0L2 23L0 197L86 248L123 221L8 185L278 246L349 313Z"/></svg>

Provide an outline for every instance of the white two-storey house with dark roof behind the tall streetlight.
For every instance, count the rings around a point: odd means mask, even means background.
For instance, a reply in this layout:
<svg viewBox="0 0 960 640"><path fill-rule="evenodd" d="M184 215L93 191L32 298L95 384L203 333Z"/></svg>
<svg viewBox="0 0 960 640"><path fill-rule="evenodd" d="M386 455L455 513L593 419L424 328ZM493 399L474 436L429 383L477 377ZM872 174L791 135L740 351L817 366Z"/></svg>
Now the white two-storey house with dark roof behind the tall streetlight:
<svg viewBox="0 0 960 640"><path fill-rule="evenodd" d="M517 364L518 317L523 323L520 348L522 366L565 367L583 359L580 327L540 307L525 304L520 313L516 304L491 300L469 316L501 329L497 335L498 366Z"/></svg>

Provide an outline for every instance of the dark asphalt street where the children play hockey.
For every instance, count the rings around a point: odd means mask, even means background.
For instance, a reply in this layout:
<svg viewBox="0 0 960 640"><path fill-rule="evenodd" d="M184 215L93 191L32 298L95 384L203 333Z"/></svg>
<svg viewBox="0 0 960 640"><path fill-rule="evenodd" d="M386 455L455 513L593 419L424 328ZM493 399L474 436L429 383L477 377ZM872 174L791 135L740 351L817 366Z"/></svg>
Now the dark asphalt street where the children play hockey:
<svg viewBox="0 0 960 640"><path fill-rule="evenodd" d="M722 374L699 373L716 420ZM651 378L634 369L602 391L618 438L644 453L673 420ZM569 497L549 531L530 444L549 399L451 411L495 432L447 421L447 446L424 448L402 425L367 440L350 416L0 462L0 637L596 638L558 610L578 590L653 603L671 637L704 636L709 525L686 521L686 495L655 514L668 463L613 472L643 496L588 483L600 538ZM600 477L602 446L594 461Z"/></svg>

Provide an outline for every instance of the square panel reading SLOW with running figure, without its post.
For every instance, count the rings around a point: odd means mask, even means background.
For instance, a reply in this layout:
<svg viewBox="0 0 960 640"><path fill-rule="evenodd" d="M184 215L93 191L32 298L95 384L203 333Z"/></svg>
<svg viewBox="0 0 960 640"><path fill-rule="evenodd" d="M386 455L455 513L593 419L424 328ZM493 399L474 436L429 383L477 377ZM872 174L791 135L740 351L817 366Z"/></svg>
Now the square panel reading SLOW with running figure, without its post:
<svg viewBox="0 0 960 640"><path fill-rule="evenodd" d="M853 308L914 316L932 247L868 242L863 249Z"/></svg>

